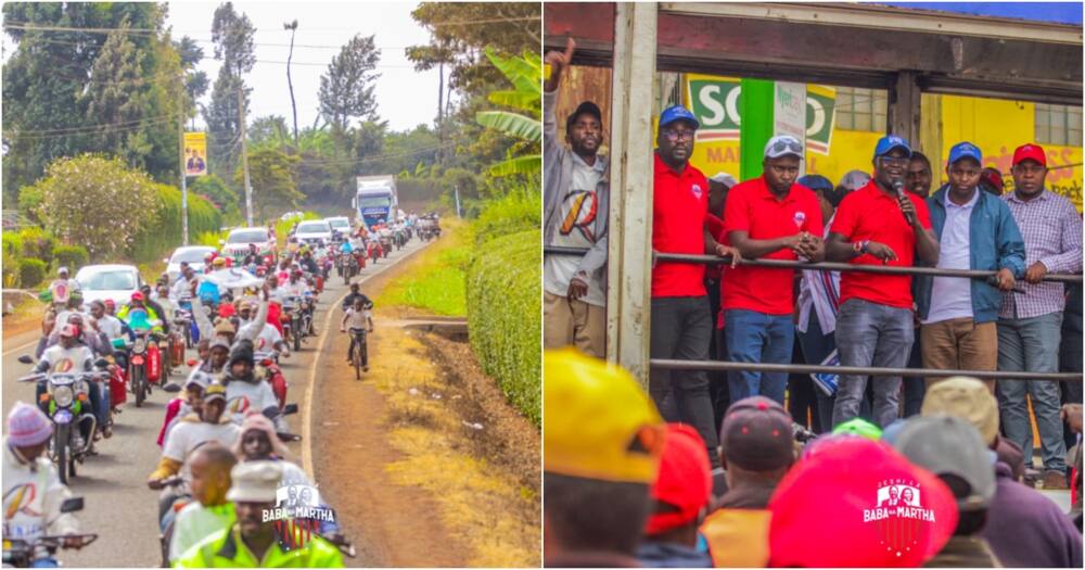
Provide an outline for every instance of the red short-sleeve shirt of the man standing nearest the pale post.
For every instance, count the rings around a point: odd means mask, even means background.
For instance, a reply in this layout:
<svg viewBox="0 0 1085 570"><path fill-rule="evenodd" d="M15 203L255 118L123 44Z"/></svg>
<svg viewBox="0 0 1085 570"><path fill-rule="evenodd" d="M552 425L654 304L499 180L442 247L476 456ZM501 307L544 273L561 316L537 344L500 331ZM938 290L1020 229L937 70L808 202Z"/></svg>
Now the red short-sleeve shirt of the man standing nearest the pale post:
<svg viewBox="0 0 1085 570"><path fill-rule="evenodd" d="M678 174L655 160L652 199L652 249L661 253L704 254L709 181L691 164ZM704 265L659 263L652 269L652 296L702 296Z"/></svg>

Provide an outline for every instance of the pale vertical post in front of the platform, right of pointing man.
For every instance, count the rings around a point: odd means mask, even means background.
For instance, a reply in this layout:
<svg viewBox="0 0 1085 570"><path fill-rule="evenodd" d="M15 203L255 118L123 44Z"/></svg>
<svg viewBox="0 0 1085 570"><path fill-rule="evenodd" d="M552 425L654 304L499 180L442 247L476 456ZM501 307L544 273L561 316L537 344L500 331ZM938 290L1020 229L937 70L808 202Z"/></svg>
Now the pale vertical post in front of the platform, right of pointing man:
<svg viewBox="0 0 1085 570"><path fill-rule="evenodd" d="M607 354L648 388L652 283L655 3L622 2L614 18Z"/></svg>

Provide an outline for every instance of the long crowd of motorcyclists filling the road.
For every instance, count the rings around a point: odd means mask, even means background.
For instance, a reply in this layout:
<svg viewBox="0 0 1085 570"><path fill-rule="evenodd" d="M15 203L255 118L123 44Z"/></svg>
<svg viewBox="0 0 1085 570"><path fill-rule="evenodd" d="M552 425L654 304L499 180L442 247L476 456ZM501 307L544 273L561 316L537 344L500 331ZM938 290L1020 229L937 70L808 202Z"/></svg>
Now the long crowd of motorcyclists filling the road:
<svg viewBox="0 0 1085 570"><path fill-rule="evenodd" d="M247 566L246 556L266 562L288 554L306 556L303 566L342 566L341 553L353 556L353 547L334 522L311 521L319 529L311 541L281 550L282 544L263 542L270 527L258 517L250 520L252 504L275 506L269 481L275 480L272 490L312 486L299 467L283 458L282 442L299 438L290 433L285 419L297 406L286 403L278 360L317 333L316 301L332 267L349 283L367 261L376 263L413 236L431 239L438 232L436 216L412 215L336 232L327 243L301 243L290 236L278 255L261 254L255 245L238 257L210 253L202 275L182 263L176 280L163 275L120 306L85 304L78 283L61 268L49 288L52 304L34 357L20 357L34 365L20 380L36 382L35 402L16 404L8 418L4 565L55 566L56 548L93 541L78 534L71 512L81 508L81 499L78 505L65 501L72 498L66 483L76 464L111 438L128 394L140 406L152 389L159 389L178 393L166 405L157 436L161 457L146 480L161 493L164 565L220 566L221 552L196 548L215 536L234 541L234 563L227 566ZM372 330L372 302L357 283L343 308L344 326L349 320L352 330L366 324ZM186 349L195 349L197 358L186 362ZM186 365L187 377L171 380L170 372ZM31 485L25 503L23 495L13 495L21 484ZM17 550L17 545L26 548Z"/></svg>

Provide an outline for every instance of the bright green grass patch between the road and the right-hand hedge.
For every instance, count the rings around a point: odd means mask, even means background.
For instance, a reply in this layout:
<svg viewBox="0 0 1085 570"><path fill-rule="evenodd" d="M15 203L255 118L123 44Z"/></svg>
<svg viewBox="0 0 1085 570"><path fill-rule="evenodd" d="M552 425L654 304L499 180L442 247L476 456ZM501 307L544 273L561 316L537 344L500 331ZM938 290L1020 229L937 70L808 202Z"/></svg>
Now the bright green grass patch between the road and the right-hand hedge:
<svg viewBox="0 0 1085 570"><path fill-rule="evenodd" d="M449 317L467 315L471 230L455 218L442 219L442 226L437 242L412 259L409 273L388 283L374 300L379 306L407 306Z"/></svg>

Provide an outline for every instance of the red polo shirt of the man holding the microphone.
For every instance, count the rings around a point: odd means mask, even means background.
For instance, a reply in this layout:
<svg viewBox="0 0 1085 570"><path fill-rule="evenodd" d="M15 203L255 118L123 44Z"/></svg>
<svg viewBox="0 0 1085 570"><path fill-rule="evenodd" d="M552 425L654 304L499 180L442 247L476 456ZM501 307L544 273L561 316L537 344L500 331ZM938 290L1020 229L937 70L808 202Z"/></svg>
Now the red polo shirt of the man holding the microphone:
<svg viewBox="0 0 1085 570"><path fill-rule="evenodd" d="M923 229L931 228L931 213L927 202L918 194L905 191L916 206L916 215ZM896 261L886 265L911 267L916 257L916 232L904 219L896 198L878 189L871 179L866 186L844 197L837 210L830 230L850 242L870 240L884 243L896 253ZM855 265L882 265L873 255L860 255L850 263ZM840 303L861 299L880 305L911 308L910 275L878 275L842 271L840 275Z"/></svg>

